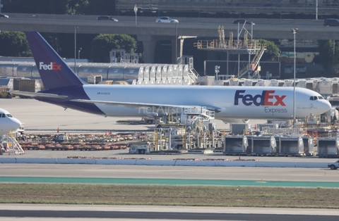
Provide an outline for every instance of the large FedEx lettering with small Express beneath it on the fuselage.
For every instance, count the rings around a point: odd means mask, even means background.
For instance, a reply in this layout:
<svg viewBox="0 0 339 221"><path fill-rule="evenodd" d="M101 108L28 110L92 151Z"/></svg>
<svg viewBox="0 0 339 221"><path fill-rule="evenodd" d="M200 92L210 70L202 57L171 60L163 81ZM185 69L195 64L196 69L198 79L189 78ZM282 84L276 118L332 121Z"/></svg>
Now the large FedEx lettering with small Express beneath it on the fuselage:
<svg viewBox="0 0 339 221"><path fill-rule="evenodd" d="M287 108L280 108L279 106L286 106L284 99L286 95L276 95L274 90L263 91L261 94L245 94L246 90L237 90L234 95L234 105L239 105L239 100L245 106L266 106L265 113L287 113ZM269 107L272 106L272 107Z"/></svg>

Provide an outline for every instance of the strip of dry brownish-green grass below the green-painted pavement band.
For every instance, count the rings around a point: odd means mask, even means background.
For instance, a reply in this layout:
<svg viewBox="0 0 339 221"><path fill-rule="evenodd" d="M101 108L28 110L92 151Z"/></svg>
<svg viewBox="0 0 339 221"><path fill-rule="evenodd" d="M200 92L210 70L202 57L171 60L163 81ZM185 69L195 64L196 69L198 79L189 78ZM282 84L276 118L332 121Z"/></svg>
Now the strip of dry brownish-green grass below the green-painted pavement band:
<svg viewBox="0 0 339 221"><path fill-rule="evenodd" d="M0 203L338 209L339 189L100 184L0 184Z"/></svg>

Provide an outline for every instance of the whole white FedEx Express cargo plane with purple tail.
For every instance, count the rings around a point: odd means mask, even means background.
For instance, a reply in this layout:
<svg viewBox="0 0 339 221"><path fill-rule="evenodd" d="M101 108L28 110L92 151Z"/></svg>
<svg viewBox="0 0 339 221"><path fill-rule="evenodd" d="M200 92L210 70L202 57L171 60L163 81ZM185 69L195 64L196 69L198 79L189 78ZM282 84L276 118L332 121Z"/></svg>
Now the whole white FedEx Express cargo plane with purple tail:
<svg viewBox="0 0 339 221"><path fill-rule="evenodd" d="M292 119L292 87L224 87L87 84L69 68L38 32L26 32L44 90L16 92L66 108L105 116L184 114L185 108L215 111L224 122L246 119ZM295 89L295 115L320 115L331 108L323 96ZM184 116L182 116L184 117Z"/></svg>

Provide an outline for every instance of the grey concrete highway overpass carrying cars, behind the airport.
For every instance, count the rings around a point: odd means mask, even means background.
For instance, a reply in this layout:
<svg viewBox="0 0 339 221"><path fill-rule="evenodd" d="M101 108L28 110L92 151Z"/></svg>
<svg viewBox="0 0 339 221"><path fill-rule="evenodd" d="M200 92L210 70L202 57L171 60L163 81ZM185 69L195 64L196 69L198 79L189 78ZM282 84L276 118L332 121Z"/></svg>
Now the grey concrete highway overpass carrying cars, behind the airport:
<svg viewBox="0 0 339 221"><path fill-rule="evenodd" d="M218 26L223 25L225 37L237 33L238 25L232 18L179 18L179 23L155 23L155 17L117 16L119 22L96 20L97 15L45 15L8 13L8 19L0 19L3 31L37 31L80 34L133 34L143 42L145 63L153 63L157 40L170 39L172 51L176 51L185 36L201 38L218 37ZM136 21L137 20L137 21ZM250 19L249 19L250 20ZM339 40L339 27L324 27L323 20L251 19L256 39L293 39L291 28L297 27L297 40ZM250 28L251 25L247 25ZM179 44L176 39L182 37ZM176 49L175 46L178 46ZM172 55L172 61L176 55Z"/></svg>

